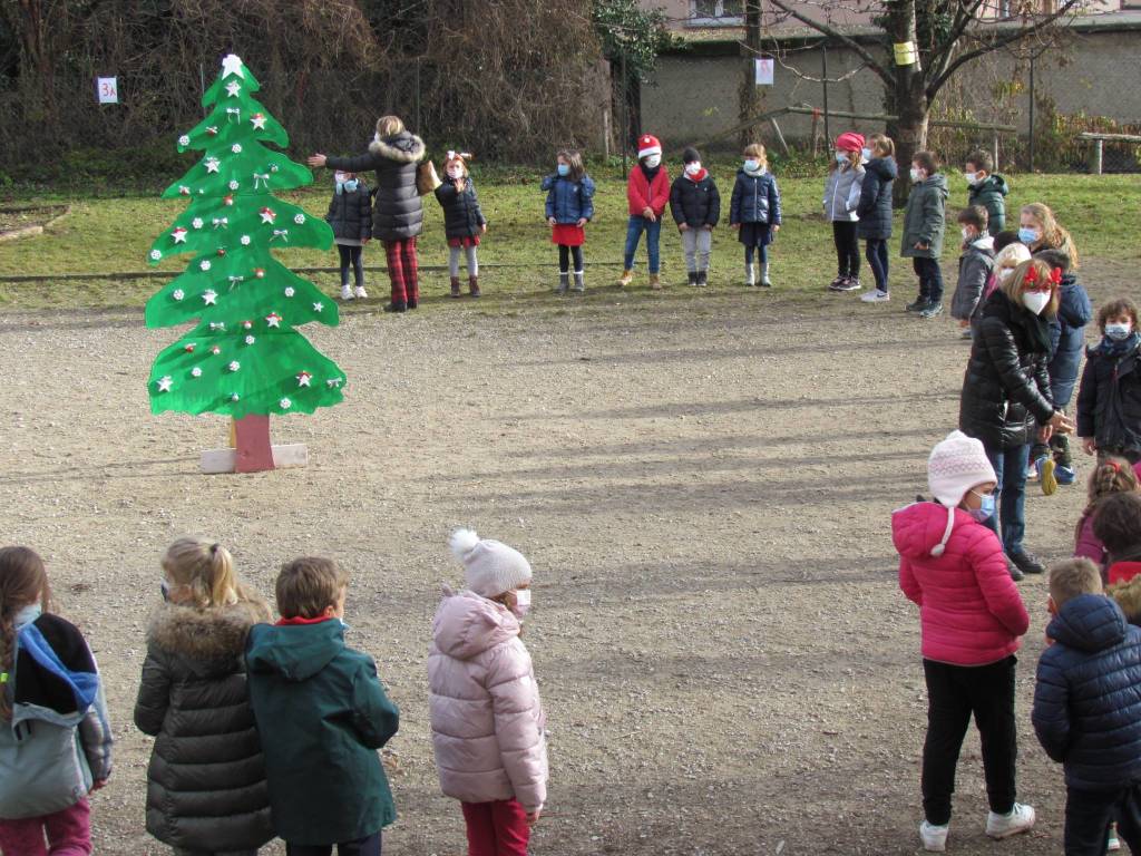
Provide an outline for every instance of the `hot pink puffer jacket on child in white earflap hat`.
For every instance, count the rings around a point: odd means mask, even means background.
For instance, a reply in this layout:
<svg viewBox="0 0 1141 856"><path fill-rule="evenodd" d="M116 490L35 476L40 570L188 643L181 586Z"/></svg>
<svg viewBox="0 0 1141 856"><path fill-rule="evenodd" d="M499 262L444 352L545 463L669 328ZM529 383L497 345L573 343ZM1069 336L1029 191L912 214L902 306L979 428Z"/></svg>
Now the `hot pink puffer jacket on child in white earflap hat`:
<svg viewBox="0 0 1141 856"><path fill-rule="evenodd" d="M923 656L952 665L986 665L1018 651L1030 625L1006 570L998 536L963 511L941 556L947 509L916 502L891 518L899 551L899 588L919 604Z"/></svg>

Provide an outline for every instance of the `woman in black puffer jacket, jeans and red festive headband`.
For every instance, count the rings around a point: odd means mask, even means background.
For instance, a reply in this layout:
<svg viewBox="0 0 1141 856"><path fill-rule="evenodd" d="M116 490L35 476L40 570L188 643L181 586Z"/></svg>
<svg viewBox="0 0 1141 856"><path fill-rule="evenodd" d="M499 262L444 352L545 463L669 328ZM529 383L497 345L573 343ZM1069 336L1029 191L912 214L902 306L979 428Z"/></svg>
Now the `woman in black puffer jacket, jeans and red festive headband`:
<svg viewBox="0 0 1141 856"><path fill-rule="evenodd" d="M1047 318L1058 310L1058 300L1049 265L1030 260L1015 268L982 308L960 399L960 429L982 442L995 468L998 514L986 525L1002 541L1015 580L1044 570L1022 547L1030 443L1036 436L1046 442L1054 431L1074 429L1054 409L1046 371Z"/></svg>

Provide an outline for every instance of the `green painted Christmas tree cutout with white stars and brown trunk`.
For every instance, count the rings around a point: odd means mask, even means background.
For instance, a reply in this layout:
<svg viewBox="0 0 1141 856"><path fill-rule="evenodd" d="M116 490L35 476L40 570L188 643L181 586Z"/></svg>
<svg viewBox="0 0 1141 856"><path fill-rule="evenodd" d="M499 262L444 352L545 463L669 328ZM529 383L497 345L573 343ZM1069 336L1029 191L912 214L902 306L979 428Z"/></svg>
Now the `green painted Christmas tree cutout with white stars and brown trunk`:
<svg viewBox="0 0 1141 856"><path fill-rule="evenodd" d="M208 467L205 453L203 468L215 471L272 469L274 452L296 455L297 447L270 447L269 417L337 404L345 386L337 364L294 329L310 321L335 326L337 304L273 255L291 247L327 249L333 233L321 218L273 195L311 183L313 173L266 147L289 145L289 135L253 98L259 88L238 57L222 60L202 96L203 107L213 110L178 139L179 152L200 151L202 159L162 194L185 197L189 208L155 240L148 258L156 265L194 253L186 272L147 302L148 328L195 323L159 354L147 391L154 413L233 417L234 466L215 460Z"/></svg>

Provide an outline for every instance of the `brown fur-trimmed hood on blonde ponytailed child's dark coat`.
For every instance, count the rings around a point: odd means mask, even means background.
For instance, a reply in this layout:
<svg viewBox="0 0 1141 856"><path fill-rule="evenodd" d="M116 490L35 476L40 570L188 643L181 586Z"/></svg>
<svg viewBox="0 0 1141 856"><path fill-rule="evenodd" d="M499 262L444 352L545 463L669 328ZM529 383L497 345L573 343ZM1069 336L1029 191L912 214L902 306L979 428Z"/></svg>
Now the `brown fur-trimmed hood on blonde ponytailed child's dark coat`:
<svg viewBox="0 0 1141 856"><path fill-rule="evenodd" d="M222 609L163 604L151 619L147 644L191 660L219 661L240 657L250 628L265 616L252 604Z"/></svg>

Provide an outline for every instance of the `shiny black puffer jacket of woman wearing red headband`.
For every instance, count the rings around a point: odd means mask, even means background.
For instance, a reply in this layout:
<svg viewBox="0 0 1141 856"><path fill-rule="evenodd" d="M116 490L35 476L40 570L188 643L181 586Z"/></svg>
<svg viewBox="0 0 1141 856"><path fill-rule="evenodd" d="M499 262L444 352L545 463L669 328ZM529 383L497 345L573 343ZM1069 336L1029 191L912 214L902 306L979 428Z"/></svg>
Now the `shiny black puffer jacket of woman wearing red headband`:
<svg viewBox="0 0 1141 856"><path fill-rule="evenodd" d="M1038 341L1034 324L1042 323ZM1005 293L995 291L982 308L963 378L958 427L987 449L1012 449L1035 439L1054 414L1046 372L1049 329Z"/></svg>

